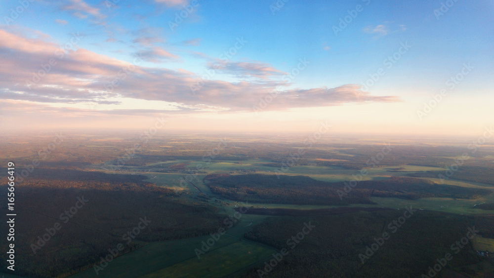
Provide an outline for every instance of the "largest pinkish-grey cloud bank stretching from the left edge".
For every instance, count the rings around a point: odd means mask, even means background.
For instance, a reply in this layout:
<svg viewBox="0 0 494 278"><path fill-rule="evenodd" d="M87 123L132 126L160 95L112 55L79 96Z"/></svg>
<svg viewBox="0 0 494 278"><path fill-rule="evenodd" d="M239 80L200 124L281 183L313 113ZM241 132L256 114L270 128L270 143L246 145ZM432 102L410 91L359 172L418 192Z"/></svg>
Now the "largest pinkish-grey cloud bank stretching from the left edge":
<svg viewBox="0 0 494 278"><path fill-rule="evenodd" d="M4 30L0 30L0 37L4 38L0 40L0 90L4 99L108 103L123 97L176 103L182 111L191 112L252 111L268 95L276 96L266 108L269 110L400 101L396 96L373 96L356 84L277 91L284 83L268 77L284 73L261 62L219 64L219 71L256 78L253 81L203 80L184 70L143 67L137 58L122 61L83 48L67 49L62 56L60 47L47 39L28 39ZM174 57L158 47L150 48L148 54L151 56L147 58ZM49 65L50 60L56 63ZM193 91L198 84L200 89Z"/></svg>

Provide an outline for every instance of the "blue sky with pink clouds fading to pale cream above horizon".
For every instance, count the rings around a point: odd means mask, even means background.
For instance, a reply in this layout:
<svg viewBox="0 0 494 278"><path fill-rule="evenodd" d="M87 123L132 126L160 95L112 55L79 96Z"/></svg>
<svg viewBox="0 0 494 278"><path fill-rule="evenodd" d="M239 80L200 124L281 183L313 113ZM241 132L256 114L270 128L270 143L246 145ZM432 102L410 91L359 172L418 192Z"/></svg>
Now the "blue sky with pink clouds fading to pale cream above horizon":
<svg viewBox="0 0 494 278"><path fill-rule="evenodd" d="M2 0L0 128L476 137L494 122L493 15L494 0Z"/></svg>

